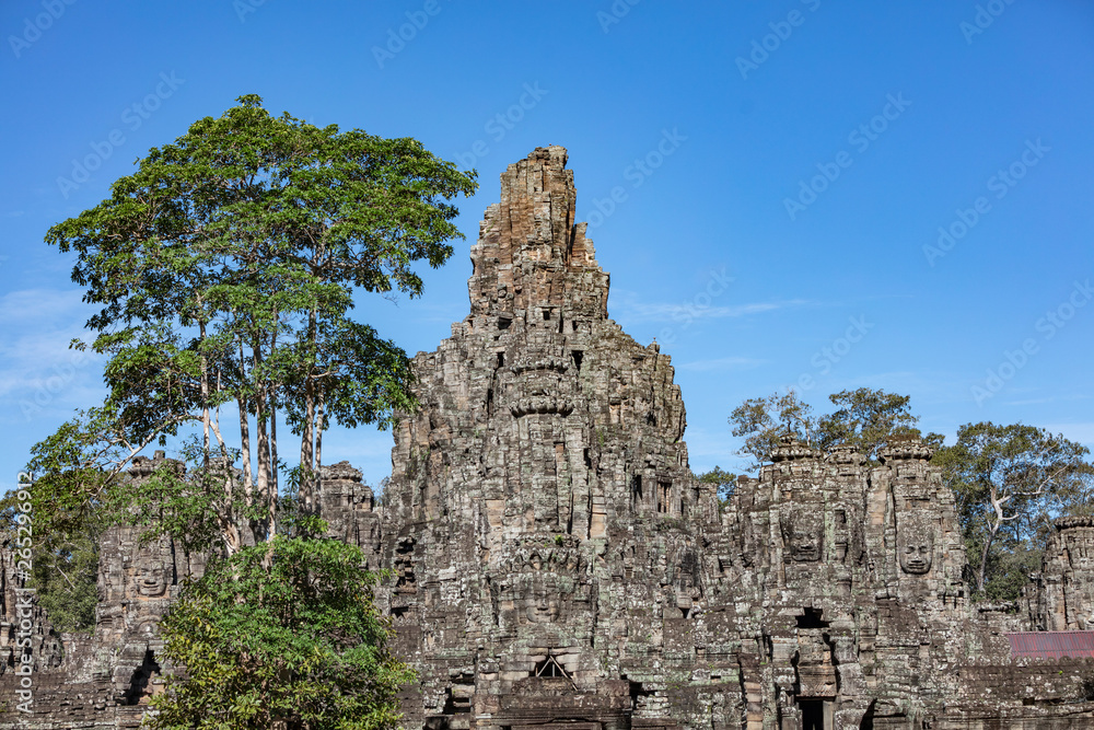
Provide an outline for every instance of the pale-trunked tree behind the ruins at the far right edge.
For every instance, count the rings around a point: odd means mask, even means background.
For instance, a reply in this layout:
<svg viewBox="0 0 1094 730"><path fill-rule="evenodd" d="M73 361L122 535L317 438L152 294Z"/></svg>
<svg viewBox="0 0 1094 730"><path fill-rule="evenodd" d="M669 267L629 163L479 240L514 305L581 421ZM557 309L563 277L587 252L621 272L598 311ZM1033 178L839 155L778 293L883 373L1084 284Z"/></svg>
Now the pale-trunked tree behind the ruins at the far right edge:
<svg viewBox="0 0 1094 730"><path fill-rule="evenodd" d="M1051 521L1091 513L1090 451L1033 426L965 424L934 463L954 490L974 598L1016 599L1040 564Z"/></svg>

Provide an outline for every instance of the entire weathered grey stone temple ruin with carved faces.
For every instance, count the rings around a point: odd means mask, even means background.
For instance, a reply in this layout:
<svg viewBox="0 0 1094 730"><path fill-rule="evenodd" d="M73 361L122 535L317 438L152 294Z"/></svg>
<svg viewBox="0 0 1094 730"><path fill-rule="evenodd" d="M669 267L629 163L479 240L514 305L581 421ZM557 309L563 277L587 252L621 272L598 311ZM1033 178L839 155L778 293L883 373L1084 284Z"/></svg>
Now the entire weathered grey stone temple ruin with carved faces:
<svg viewBox="0 0 1094 730"><path fill-rule="evenodd" d="M566 162L539 148L502 174L470 314L415 359L422 407L395 432L383 506L349 464L324 467L333 535L395 571L377 603L419 671L405 727L1094 727L1094 663L1016 649L1090 639L1094 521L1057 524L1020 604L984 605L918 441L880 465L784 441L720 509L691 475L668 356L608 318ZM138 727L162 687L156 621L202 561L110 530L94 636L31 612L20 716L21 582L0 558L0 727Z"/></svg>

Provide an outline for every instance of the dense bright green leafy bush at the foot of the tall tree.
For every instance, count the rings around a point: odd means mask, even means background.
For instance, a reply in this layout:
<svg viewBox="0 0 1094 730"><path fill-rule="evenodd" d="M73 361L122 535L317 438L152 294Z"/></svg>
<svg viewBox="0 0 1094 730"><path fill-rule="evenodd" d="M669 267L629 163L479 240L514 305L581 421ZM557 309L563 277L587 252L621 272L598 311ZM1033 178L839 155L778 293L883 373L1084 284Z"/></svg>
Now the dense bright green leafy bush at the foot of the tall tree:
<svg viewBox="0 0 1094 730"><path fill-rule="evenodd" d="M164 656L185 667L152 700L151 727L393 727L399 686L360 548L277 536L210 564L160 624Z"/></svg>

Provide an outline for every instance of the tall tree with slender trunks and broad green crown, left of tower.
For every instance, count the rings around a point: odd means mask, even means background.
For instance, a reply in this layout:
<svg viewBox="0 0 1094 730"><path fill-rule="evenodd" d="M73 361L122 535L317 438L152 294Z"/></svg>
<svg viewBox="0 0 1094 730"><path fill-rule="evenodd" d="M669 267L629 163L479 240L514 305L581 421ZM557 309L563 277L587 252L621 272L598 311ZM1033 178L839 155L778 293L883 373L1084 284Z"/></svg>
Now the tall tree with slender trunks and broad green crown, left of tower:
<svg viewBox="0 0 1094 730"><path fill-rule="evenodd" d="M257 96L238 101L151 150L108 199L47 234L77 254L73 280L102 308L88 323L96 336L78 346L108 356L109 397L32 462L69 507L108 502L144 447L196 430L199 484L228 515L219 533L230 552L247 529L259 541L276 534L279 412L300 437L307 506L331 420L383 427L414 405L406 354L350 317L354 296L419 296L414 265L440 266L447 241L463 237L446 200L476 187L474 173L414 139L319 128L271 116ZM229 406L238 443L222 433ZM238 483L216 466L236 456ZM160 483L194 489L166 474Z"/></svg>

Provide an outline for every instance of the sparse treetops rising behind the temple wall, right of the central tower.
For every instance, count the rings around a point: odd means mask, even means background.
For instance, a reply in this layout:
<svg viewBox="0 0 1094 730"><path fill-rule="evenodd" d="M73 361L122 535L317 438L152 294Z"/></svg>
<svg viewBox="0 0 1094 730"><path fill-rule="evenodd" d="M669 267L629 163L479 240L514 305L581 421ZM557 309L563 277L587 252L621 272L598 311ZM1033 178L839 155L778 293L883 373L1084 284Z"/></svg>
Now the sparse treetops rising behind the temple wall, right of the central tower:
<svg viewBox="0 0 1094 730"><path fill-rule="evenodd" d="M748 398L730 414L733 436L744 437L742 454L750 455L755 466L768 460L783 436L816 448L851 445L870 461L894 437L920 437L919 421L909 410L910 397L881 390L860 387L828 396L836 410L814 416L812 407L789 391L766 398ZM942 436L929 433L928 443L939 447Z"/></svg>

